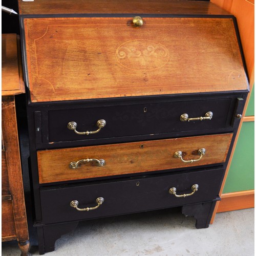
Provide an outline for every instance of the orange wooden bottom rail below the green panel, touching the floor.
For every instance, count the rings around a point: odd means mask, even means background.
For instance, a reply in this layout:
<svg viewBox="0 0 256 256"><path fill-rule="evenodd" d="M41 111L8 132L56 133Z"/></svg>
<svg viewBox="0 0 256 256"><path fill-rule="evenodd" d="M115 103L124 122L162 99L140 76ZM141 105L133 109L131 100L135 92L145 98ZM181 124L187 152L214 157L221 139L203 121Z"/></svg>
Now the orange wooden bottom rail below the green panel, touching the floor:
<svg viewBox="0 0 256 256"><path fill-rule="evenodd" d="M218 212L240 210L254 207L254 189L226 193L221 196Z"/></svg>

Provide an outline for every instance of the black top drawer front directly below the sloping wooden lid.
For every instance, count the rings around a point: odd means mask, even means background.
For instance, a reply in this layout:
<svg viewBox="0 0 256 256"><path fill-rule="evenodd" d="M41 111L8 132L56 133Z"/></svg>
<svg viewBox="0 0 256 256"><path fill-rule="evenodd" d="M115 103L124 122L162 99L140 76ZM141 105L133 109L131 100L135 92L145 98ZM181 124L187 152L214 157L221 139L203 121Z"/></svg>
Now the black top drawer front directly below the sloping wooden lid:
<svg viewBox="0 0 256 256"><path fill-rule="evenodd" d="M187 131L230 130L236 99L195 100L152 104L119 105L103 108L83 108L48 111L49 142L64 142L98 138L137 136ZM188 118L205 117L205 120L181 121ZM207 116L207 115L206 115ZM68 128L75 122L77 132L97 131L98 120L105 120L105 126L95 134L77 134Z"/></svg>

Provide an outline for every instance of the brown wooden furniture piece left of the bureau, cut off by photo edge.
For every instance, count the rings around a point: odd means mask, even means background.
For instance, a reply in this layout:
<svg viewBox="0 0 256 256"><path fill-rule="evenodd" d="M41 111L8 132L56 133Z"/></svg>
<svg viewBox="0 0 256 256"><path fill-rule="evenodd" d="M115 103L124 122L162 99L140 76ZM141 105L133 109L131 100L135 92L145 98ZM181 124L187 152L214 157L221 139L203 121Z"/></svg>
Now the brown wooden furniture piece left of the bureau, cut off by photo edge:
<svg viewBox="0 0 256 256"><path fill-rule="evenodd" d="M16 34L2 35L2 241L29 250L14 95L25 93Z"/></svg>

